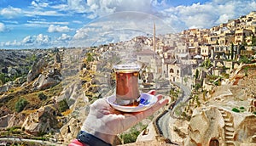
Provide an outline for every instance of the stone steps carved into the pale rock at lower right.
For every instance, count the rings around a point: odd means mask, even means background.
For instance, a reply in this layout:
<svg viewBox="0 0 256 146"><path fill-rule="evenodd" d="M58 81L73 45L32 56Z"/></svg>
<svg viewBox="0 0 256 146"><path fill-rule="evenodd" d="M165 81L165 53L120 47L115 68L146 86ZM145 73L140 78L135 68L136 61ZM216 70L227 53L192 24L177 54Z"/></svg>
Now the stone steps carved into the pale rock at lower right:
<svg viewBox="0 0 256 146"><path fill-rule="evenodd" d="M228 111L218 109L224 119L224 141L226 146L236 146L234 142L235 128L233 117L228 115Z"/></svg>

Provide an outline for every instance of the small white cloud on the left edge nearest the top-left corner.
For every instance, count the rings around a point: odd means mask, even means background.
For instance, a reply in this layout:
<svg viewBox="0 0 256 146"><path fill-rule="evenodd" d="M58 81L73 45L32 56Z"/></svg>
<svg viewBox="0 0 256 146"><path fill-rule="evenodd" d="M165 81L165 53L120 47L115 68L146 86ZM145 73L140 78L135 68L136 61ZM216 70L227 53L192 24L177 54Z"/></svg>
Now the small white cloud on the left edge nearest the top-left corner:
<svg viewBox="0 0 256 146"><path fill-rule="evenodd" d="M0 14L5 18L13 19L22 14L22 11L20 8L13 8L9 6L8 8L1 9Z"/></svg>

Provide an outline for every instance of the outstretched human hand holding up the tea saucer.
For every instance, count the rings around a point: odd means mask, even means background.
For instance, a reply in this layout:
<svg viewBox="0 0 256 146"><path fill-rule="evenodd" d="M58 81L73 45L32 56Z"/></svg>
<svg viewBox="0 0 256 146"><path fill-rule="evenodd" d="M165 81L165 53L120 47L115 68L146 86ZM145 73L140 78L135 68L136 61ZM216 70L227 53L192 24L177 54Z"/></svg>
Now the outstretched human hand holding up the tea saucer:
<svg viewBox="0 0 256 146"><path fill-rule="evenodd" d="M155 94L152 90L148 92ZM125 132L131 126L134 126L139 121L153 115L155 111L168 103L167 99L162 99L161 95L156 96L158 101L148 110L136 113L125 113L113 109L106 101L106 98L96 100L90 105L90 112L81 128L82 131L90 132L107 143L113 143L113 138L120 132Z"/></svg>

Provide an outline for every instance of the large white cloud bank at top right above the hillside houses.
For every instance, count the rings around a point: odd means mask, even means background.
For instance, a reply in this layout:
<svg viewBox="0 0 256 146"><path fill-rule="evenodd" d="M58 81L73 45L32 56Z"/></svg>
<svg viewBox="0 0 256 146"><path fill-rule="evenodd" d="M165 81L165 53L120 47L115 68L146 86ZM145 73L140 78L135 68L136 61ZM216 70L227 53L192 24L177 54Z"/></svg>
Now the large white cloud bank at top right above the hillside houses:
<svg viewBox="0 0 256 146"><path fill-rule="evenodd" d="M213 0L210 3L194 3L160 10L162 18L182 31L188 28L210 28L213 25L237 19L256 9L254 0ZM171 17L171 18L170 18ZM176 25L178 24L178 25Z"/></svg>

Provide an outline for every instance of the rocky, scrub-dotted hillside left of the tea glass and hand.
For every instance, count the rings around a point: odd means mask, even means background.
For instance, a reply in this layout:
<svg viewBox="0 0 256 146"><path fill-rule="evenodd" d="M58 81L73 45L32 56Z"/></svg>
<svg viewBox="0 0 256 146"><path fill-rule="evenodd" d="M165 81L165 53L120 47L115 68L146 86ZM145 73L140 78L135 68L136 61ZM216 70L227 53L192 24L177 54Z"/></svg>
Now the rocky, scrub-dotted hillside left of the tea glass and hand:
<svg viewBox="0 0 256 146"><path fill-rule="evenodd" d="M76 138L88 106L113 93L111 69L118 58L107 46L1 51L1 137L69 143Z"/></svg>

